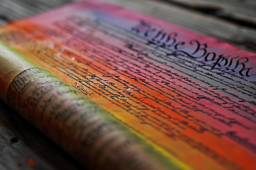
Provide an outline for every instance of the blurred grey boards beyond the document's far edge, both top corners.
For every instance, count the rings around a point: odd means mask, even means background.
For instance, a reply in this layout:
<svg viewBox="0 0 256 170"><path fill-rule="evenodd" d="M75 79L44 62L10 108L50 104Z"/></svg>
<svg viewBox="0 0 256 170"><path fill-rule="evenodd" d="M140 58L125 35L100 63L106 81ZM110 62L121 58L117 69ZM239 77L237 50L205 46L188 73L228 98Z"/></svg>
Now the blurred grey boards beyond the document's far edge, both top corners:
<svg viewBox="0 0 256 170"><path fill-rule="evenodd" d="M0 25L79 0L0 0ZM256 51L255 0L103 0Z"/></svg>

